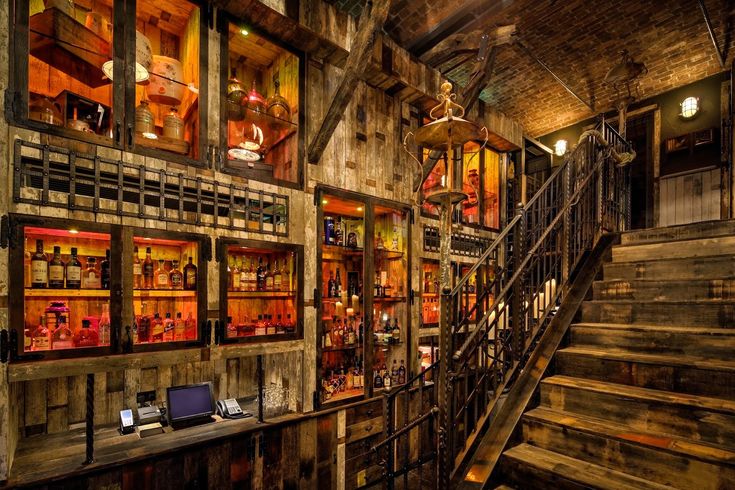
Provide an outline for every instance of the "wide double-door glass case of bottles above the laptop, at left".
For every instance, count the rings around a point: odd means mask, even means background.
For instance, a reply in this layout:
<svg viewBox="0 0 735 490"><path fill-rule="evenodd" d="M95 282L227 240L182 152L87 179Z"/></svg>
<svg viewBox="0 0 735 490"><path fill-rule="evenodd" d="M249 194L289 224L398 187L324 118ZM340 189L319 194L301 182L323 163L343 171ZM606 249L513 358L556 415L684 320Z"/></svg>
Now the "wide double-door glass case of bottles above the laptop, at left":
<svg viewBox="0 0 735 490"><path fill-rule="evenodd" d="M202 345L206 237L11 215L13 360ZM15 292L21 292L15 294Z"/></svg>

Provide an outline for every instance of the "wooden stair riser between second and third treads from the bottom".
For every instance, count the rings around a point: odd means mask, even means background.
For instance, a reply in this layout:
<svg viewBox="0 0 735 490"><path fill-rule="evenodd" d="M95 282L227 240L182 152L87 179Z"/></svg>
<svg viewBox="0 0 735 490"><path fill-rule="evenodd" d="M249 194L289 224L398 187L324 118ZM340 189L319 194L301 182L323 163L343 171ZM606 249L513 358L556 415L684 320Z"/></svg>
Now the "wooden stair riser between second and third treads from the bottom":
<svg viewBox="0 0 735 490"><path fill-rule="evenodd" d="M625 424L631 429L735 445L735 415L687 405L541 384L541 405Z"/></svg>

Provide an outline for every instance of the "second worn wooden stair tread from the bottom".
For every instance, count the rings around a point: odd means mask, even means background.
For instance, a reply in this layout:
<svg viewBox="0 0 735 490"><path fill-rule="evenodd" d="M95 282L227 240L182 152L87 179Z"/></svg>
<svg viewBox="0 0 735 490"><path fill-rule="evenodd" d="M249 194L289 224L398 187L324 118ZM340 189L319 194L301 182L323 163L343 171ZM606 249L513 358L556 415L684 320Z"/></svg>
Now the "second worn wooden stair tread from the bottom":
<svg viewBox="0 0 735 490"><path fill-rule="evenodd" d="M735 466L735 452L715 444L702 443L668 434L645 432L607 420L560 412L547 407L534 408L526 412L523 417L524 419L595 434L606 439L615 439L624 443L668 451L685 458L696 458L716 465Z"/></svg>

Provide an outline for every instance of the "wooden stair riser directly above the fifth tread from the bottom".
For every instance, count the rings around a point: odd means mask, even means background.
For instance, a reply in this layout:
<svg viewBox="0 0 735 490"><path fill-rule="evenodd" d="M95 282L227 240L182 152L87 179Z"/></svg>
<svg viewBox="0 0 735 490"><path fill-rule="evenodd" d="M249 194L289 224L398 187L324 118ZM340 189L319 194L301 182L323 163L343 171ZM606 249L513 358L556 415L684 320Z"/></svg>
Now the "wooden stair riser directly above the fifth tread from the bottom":
<svg viewBox="0 0 735 490"><path fill-rule="evenodd" d="M582 321L693 327L735 326L735 303L582 303Z"/></svg>

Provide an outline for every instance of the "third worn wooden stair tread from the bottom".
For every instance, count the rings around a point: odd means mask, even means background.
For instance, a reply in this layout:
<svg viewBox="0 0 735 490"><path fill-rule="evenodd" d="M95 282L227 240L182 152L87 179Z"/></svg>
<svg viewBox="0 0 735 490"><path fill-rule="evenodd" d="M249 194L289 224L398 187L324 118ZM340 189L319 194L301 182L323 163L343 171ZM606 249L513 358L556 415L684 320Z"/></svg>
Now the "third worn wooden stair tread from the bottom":
<svg viewBox="0 0 735 490"><path fill-rule="evenodd" d="M650 388L641 388L638 386L621 385L617 383L608 383L606 381L595 381L591 379L577 378L574 376L565 376L562 374L557 374L548 378L544 378L543 380L541 380L541 383L546 385L579 388L586 391L596 391L599 393L617 395L629 399L632 398L638 400L655 401L671 405L701 408L714 412L735 414L735 401L725 400L723 398L689 395L687 393L677 393L673 391L654 390Z"/></svg>

